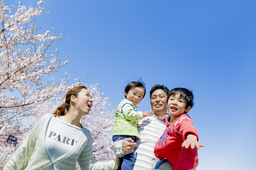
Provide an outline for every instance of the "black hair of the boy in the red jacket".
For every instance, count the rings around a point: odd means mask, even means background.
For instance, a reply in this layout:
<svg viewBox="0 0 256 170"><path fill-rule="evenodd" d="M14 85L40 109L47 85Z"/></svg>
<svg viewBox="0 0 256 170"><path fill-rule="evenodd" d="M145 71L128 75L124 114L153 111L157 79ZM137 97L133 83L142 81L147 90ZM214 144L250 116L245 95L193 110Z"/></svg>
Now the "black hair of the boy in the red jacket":
<svg viewBox="0 0 256 170"><path fill-rule="evenodd" d="M170 96L175 96L176 94L180 94L180 99L185 100L186 108L191 106L191 108L194 106L194 94L192 93L192 90L188 90L186 88L174 88L170 91L168 97L167 97L167 103L170 98ZM185 111L185 113L187 113Z"/></svg>

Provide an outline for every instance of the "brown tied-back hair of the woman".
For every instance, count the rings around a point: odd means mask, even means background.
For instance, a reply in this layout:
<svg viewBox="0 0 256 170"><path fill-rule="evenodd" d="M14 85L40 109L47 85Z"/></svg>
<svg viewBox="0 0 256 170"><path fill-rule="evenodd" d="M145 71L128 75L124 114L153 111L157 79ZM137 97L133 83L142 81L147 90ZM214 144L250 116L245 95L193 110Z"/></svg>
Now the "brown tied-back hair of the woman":
<svg viewBox="0 0 256 170"><path fill-rule="evenodd" d="M54 115L58 115L58 116L64 116L66 115L66 111L65 109L69 109L69 106L70 106L70 99L71 99L71 96L74 95L75 98L77 98L78 96L78 93L82 90L82 88L85 88L87 90L87 88L85 86L76 86L76 87L73 87L72 89L70 89L67 94L65 95L66 96L66 99L65 99L65 103L62 104L60 107L58 107L55 111L54 111Z"/></svg>

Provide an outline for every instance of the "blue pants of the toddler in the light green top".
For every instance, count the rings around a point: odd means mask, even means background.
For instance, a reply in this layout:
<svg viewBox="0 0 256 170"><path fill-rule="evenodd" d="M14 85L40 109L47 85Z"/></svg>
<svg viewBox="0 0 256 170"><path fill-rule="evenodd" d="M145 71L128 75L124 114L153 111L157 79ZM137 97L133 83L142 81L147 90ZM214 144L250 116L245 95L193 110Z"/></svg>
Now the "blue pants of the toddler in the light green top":
<svg viewBox="0 0 256 170"><path fill-rule="evenodd" d="M135 141L135 136L128 136L128 135L114 135L112 136L113 142L123 140L125 138L132 138L133 141ZM124 155L122 157L123 160L120 158L120 166L117 170L132 170L132 165L134 161L134 152L130 154Z"/></svg>

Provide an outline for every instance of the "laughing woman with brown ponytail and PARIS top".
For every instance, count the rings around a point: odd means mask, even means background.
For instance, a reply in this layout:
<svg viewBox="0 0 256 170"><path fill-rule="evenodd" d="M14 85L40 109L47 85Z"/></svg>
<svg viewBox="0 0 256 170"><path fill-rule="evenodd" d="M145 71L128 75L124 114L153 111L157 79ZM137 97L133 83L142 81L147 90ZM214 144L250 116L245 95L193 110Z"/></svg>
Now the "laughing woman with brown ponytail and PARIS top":
<svg viewBox="0 0 256 170"><path fill-rule="evenodd" d="M69 90L65 103L36 123L4 170L70 170L76 169L77 160L82 170L117 169L119 159L94 161L91 133L79 123L92 102L85 86Z"/></svg>

